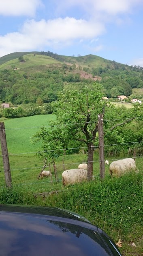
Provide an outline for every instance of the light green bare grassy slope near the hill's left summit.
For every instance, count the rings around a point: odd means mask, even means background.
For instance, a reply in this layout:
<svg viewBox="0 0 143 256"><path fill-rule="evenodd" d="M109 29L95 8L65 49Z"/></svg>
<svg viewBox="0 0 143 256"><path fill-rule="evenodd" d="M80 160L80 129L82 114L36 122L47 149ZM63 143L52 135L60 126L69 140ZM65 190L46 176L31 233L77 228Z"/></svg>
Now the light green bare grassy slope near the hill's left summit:
<svg viewBox="0 0 143 256"><path fill-rule="evenodd" d="M16 68L29 68L32 66L39 66L39 65L49 65L49 64L59 64L60 62L58 60L55 60L49 56L45 55L33 55L33 54L27 54L24 56L24 60L26 62L19 62L18 58L14 60L9 60L8 62L5 62L4 64L0 65L0 69L4 68L11 68L11 65L15 65Z"/></svg>

